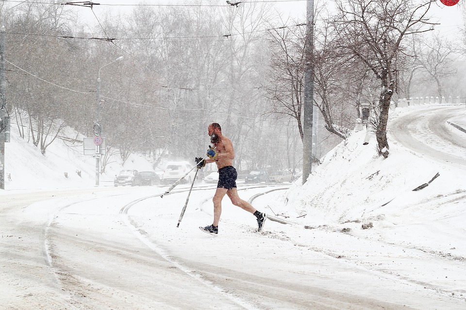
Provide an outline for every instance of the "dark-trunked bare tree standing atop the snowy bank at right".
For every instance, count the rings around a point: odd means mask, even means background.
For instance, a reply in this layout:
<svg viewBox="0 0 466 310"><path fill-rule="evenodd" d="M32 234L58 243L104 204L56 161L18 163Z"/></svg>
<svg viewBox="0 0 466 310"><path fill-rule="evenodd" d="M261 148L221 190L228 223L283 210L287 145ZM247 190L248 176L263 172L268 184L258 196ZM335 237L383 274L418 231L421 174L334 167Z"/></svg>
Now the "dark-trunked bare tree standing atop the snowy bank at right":
<svg viewBox="0 0 466 310"><path fill-rule="evenodd" d="M405 37L422 33L434 2L416 0L337 0L335 21L340 45L358 57L380 82L380 111L376 124L379 154L388 157L387 123L390 100L397 86L399 58L404 57Z"/></svg>

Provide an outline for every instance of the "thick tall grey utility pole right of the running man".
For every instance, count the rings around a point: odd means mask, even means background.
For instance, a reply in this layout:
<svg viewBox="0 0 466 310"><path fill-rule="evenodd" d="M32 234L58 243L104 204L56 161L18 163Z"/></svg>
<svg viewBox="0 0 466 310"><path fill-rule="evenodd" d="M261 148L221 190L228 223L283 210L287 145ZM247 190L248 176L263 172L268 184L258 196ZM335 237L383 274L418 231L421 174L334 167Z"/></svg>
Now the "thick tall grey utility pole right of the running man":
<svg viewBox="0 0 466 310"><path fill-rule="evenodd" d="M312 170L312 121L314 107L314 0L307 0L306 72L302 123L302 184Z"/></svg>

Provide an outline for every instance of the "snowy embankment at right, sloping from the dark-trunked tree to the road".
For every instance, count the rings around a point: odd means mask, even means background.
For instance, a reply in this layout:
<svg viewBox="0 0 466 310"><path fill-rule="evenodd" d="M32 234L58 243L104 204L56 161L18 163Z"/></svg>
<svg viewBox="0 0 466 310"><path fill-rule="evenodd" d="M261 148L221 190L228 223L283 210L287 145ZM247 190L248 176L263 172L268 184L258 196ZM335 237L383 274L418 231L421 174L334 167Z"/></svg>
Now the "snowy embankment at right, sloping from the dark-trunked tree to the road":
<svg viewBox="0 0 466 310"><path fill-rule="evenodd" d="M397 109L391 119L416 109L425 107ZM466 113L449 121L466 125ZM443 125L466 139L462 131ZM425 136L423 131L418 134ZM366 130L353 132L326 155L306 184L295 184L277 202L269 199L262 206L306 228L342 231L466 261L465 166L431 160L390 135L390 156L383 159L377 156L375 137L363 145L365 136ZM464 149L457 147L453 155L465 157Z"/></svg>

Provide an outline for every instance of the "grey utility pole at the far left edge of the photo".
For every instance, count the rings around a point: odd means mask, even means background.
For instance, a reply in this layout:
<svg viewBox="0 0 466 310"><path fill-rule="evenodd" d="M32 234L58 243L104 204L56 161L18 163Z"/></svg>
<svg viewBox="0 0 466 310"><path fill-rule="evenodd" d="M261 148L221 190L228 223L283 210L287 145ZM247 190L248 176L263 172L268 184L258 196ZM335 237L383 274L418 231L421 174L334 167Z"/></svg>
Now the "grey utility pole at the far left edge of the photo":
<svg viewBox="0 0 466 310"><path fill-rule="evenodd" d="M0 189L5 189L5 141L9 141L10 121L6 113L5 100L5 26L0 32ZM8 133L7 133L8 132Z"/></svg>

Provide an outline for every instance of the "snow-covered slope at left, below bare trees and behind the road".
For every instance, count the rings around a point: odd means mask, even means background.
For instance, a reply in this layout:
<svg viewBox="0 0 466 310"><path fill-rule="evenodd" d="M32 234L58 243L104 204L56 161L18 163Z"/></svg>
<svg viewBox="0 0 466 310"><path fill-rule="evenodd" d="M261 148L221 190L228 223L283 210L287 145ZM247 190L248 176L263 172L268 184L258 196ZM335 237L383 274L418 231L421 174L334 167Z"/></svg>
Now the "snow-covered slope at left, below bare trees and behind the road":
<svg viewBox="0 0 466 310"><path fill-rule="evenodd" d="M64 135L76 137L69 128ZM83 155L82 143L56 139L42 155L40 148L20 138L14 127L10 140L5 143L5 190L95 186L96 159ZM100 186L113 186L114 176L121 169L153 170L149 161L133 154L124 165L119 155L109 162L106 173L100 175Z"/></svg>

